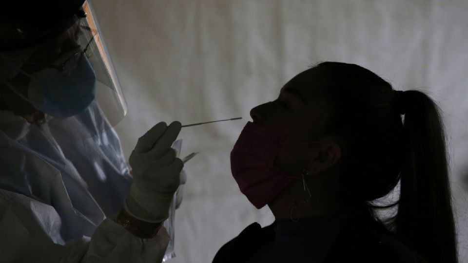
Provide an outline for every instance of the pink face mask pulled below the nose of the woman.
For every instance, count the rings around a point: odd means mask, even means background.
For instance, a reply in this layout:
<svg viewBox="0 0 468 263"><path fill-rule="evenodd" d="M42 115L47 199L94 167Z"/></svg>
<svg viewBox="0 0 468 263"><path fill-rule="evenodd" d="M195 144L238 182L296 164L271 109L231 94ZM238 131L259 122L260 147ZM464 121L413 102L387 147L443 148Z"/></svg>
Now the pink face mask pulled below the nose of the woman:
<svg viewBox="0 0 468 263"><path fill-rule="evenodd" d="M300 176L290 176L274 166L281 145L304 145L317 142L284 143L286 134L247 122L231 151L231 171L240 191L258 209L264 207Z"/></svg>

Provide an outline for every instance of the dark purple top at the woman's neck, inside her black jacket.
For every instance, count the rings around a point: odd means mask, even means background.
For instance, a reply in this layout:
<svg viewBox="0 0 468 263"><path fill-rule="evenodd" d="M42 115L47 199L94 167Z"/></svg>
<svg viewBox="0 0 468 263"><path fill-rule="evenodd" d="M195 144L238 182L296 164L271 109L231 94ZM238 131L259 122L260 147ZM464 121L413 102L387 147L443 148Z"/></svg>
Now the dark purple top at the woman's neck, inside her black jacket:
<svg viewBox="0 0 468 263"><path fill-rule="evenodd" d="M246 263L319 263L349 219L350 209L339 214L302 218L298 222L276 220L274 239L263 245Z"/></svg>

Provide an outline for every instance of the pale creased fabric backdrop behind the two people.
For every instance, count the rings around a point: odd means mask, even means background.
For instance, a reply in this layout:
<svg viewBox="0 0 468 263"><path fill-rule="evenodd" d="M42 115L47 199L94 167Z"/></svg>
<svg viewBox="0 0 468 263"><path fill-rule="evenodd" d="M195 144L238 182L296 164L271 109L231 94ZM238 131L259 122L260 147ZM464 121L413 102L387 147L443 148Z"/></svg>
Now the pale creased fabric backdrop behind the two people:
<svg viewBox="0 0 468 263"><path fill-rule="evenodd" d="M211 262L244 227L273 222L232 178L229 153L250 110L319 61L364 66L397 90L423 88L444 110L451 180L468 262L468 2L464 0L94 0L128 103L126 157L159 121L182 128L188 181L173 263ZM465 176L465 177L463 177ZM430 229L428 229L430 231Z"/></svg>

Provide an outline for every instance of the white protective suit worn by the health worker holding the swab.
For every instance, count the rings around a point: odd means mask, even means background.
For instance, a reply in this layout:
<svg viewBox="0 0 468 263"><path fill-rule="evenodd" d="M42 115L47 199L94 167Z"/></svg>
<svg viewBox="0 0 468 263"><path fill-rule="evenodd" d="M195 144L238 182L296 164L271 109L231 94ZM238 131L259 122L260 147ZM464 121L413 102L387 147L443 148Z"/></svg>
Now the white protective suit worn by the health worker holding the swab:
<svg viewBox="0 0 468 263"><path fill-rule="evenodd" d="M161 262L163 226L143 240L114 221L132 178L97 104L46 120L0 110L0 262Z"/></svg>

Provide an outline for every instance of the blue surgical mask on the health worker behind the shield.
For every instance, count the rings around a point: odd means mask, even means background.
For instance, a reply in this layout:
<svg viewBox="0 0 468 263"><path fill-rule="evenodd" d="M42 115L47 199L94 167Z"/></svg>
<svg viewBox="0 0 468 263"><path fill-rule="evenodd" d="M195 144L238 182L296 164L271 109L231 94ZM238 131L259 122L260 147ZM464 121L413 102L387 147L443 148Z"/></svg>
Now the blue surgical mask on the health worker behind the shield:
<svg viewBox="0 0 468 263"><path fill-rule="evenodd" d="M45 68L32 75L28 95L20 94L9 82L5 84L34 108L56 118L66 118L84 112L96 96L96 75L86 58L81 56L70 76L54 68Z"/></svg>

